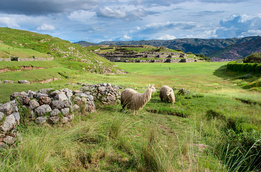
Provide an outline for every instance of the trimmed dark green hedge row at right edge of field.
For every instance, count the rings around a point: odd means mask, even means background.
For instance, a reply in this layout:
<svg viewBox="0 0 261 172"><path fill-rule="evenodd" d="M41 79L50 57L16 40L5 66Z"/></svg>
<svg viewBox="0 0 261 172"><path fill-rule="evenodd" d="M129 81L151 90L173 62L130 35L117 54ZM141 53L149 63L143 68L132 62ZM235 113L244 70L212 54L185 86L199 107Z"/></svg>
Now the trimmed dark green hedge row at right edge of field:
<svg viewBox="0 0 261 172"><path fill-rule="evenodd" d="M235 63L229 62L227 69L236 72L255 72L261 73L261 64L258 63Z"/></svg>

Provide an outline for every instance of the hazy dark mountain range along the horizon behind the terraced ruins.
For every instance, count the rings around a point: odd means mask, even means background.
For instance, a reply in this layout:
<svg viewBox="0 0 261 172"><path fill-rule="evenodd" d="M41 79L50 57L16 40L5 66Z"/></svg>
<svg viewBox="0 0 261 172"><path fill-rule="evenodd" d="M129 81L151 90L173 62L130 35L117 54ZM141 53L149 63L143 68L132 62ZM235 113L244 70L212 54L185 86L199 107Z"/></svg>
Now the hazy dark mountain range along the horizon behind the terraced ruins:
<svg viewBox="0 0 261 172"><path fill-rule="evenodd" d="M261 36L228 39L184 38L174 40L140 40L140 41L104 41L98 44L79 41L81 46L93 45L152 45L170 49L181 49L184 52L204 54L212 59L243 59L252 52L261 52Z"/></svg>

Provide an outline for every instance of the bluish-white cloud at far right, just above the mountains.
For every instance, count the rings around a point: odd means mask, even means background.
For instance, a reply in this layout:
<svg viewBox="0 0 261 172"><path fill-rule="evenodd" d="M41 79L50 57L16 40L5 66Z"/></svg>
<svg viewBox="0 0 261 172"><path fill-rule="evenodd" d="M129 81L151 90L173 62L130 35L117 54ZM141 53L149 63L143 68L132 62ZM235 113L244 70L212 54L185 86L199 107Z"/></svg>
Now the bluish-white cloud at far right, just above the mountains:
<svg viewBox="0 0 261 172"><path fill-rule="evenodd" d="M248 16L246 14L231 15L229 18L220 21L220 28L217 29L218 37L239 37L248 33L258 33L261 30L261 14Z"/></svg>

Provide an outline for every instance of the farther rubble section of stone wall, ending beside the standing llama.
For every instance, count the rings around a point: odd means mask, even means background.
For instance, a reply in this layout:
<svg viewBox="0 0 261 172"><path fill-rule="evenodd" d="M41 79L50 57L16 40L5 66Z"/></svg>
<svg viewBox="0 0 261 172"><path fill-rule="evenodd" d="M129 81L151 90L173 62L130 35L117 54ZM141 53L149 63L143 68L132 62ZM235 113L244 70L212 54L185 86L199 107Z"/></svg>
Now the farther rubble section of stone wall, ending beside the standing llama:
<svg viewBox="0 0 261 172"><path fill-rule="evenodd" d="M121 91L117 85L110 83L89 84L85 83L79 89L86 95L92 95L94 100L100 100L104 104L115 104L121 102Z"/></svg>

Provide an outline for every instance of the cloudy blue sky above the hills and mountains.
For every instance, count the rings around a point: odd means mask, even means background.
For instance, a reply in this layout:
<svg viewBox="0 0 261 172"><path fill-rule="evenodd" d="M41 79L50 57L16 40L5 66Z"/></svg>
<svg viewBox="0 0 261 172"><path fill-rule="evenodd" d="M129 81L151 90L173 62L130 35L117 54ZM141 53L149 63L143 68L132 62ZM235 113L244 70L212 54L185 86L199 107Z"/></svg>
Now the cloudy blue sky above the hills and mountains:
<svg viewBox="0 0 261 172"><path fill-rule="evenodd" d="M260 0L0 0L0 4L1 27L70 42L261 35Z"/></svg>

